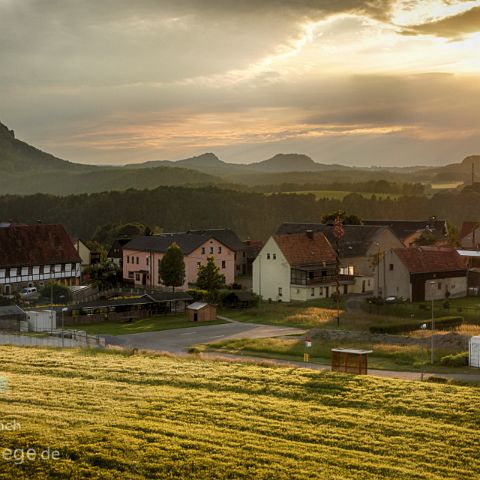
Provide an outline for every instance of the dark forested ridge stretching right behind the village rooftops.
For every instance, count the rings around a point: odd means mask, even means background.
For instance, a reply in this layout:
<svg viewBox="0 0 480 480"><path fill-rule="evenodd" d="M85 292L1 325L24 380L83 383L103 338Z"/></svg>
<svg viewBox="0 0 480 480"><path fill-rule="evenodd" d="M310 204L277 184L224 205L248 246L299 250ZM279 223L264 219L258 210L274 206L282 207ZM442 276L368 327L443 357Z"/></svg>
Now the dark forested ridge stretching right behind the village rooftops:
<svg viewBox="0 0 480 480"><path fill-rule="evenodd" d="M480 217L480 193L436 194L432 198L343 200L313 195L247 193L216 187L159 187L56 197L0 196L0 221L63 223L71 234L89 238L99 225L141 222L164 231L233 228L242 238L267 238L282 222L316 222L325 213L346 210L360 218L422 220L436 215L459 225Z"/></svg>

